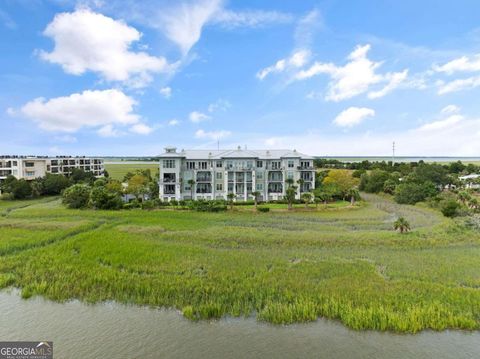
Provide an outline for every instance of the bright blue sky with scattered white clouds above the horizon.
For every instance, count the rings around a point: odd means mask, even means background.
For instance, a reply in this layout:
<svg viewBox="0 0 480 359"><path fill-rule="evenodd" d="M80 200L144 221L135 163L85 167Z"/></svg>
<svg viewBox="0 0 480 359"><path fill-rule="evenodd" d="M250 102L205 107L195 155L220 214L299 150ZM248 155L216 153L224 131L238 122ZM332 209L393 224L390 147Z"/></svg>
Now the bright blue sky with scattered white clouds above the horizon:
<svg viewBox="0 0 480 359"><path fill-rule="evenodd" d="M1 0L0 154L480 156L477 0Z"/></svg>

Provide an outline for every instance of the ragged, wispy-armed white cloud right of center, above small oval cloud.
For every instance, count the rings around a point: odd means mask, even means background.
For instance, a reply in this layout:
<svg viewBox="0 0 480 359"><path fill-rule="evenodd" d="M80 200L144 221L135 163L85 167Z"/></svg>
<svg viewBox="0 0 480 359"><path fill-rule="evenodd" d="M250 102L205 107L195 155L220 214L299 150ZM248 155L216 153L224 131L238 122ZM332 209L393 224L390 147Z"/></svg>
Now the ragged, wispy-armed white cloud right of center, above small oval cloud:
<svg viewBox="0 0 480 359"><path fill-rule="evenodd" d="M378 74L377 70L382 62L374 62L367 58L370 48L370 45L357 46L348 56L349 61L344 66L317 61L308 69L299 71L295 79L305 80L319 74L329 75L331 80L326 95L328 101L346 100L369 91L373 85L382 83L386 85L380 90L371 91L369 97L385 96L405 81L408 70Z"/></svg>

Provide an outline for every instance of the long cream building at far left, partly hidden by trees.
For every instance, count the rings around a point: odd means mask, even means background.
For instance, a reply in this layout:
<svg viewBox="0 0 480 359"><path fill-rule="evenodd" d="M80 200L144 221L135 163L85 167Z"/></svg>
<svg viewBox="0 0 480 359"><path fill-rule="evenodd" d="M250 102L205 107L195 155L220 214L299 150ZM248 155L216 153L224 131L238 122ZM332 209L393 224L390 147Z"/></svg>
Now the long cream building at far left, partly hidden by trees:
<svg viewBox="0 0 480 359"><path fill-rule="evenodd" d="M33 180L47 173L68 175L74 168L93 172L97 177L105 172L103 159L90 157L0 156L0 181L8 176Z"/></svg>

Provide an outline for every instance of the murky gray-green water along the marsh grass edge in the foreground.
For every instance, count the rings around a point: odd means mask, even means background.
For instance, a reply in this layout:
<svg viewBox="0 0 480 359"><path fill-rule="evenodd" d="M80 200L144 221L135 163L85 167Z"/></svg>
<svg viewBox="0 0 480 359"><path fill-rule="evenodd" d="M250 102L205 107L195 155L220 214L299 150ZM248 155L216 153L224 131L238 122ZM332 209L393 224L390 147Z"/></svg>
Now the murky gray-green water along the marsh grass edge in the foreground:
<svg viewBox="0 0 480 359"><path fill-rule="evenodd" d="M55 358L478 358L480 332L400 335L338 322L254 319L193 323L173 310L23 300L0 292L0 340L53 340Z"/></svg>

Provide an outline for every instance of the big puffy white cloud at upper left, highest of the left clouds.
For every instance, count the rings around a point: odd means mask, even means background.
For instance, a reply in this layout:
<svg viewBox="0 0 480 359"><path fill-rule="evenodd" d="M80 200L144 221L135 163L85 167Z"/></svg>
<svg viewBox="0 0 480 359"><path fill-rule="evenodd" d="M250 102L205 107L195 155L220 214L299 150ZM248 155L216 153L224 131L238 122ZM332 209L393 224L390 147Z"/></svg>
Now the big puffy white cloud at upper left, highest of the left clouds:
<svg viewBox="0 0 480 359"><path fill-rule="evenodd" d="M141 37L135 28L88 9L57 14L44 35L55 41L55 47L52 52L41 51L41 58L69 74L92 71L107 81L143 87L152 73L171 71L163 57L130 51Z"/></svg>

